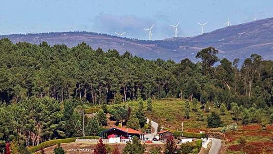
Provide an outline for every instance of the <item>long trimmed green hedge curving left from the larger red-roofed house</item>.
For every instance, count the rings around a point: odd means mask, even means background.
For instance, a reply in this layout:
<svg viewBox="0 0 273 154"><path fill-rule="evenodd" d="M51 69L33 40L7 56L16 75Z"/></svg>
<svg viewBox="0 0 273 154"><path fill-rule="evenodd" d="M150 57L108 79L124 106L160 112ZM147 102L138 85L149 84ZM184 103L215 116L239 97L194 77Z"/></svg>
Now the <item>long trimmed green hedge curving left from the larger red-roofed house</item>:
<svg viewBox="0 0 273 154"><path fill-rule="evenodd" d="M80 137L78 137L80 138ZM85 139L99 139L98 136L86 136L84 137ZM34 147L29 147L28 150L30 153L34 153L36 151L39 151L39 150L42 150L44 148L47 148L47 147L51 147L51 146L54 146L56 144L59 144L59 143L70 143L70 142L75 142L77 138L64 138L64 139L57 139L57 140L49 140L49 141L46 141L46 142L43 142L37 146L34 146Z"/></svg>

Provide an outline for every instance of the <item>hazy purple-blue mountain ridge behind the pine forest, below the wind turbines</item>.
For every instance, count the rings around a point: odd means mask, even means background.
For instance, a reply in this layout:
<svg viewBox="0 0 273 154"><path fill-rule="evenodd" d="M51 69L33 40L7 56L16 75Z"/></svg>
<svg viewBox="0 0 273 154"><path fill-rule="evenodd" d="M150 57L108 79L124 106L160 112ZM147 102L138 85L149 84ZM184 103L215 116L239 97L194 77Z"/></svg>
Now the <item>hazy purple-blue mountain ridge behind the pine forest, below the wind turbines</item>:
<svg viewBox="0 0 273 154"><path fill-rule="evenodd" d="M137 40L92 32L58 32L26 35L2 35L12 42L39 44L66 44L69 47L86 42L92 48L107 51L117 49L121 54L129 51L147 59L172 59L179 62L183 58L196 61L196 53L208 46L219 50L218 57L244 59L251 54L260 54L264 59L273 60L273 18L228 26L194 37L177 37L165 40Z"/></svg>

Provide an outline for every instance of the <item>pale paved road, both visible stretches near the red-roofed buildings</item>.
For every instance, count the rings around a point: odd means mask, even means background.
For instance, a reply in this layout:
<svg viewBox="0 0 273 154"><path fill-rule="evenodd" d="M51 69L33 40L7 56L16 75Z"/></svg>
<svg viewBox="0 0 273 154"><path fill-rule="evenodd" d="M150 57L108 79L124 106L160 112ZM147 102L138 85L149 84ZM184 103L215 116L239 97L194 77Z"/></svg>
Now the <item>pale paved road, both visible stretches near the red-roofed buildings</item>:
<svg viewBox="0 0 273 154"><path fill-rule="evenodd" d="M149 119L147 119L147 123L149 123ZM152 127L154 128L154 133L146 134L144 137L149 138L149 140L153 140L154 136L157 134L158 124L151 120ZM209 138L212 141L211 148L209 149L208 154L218 154L221 149L222 142L217 138Z"/></svg>

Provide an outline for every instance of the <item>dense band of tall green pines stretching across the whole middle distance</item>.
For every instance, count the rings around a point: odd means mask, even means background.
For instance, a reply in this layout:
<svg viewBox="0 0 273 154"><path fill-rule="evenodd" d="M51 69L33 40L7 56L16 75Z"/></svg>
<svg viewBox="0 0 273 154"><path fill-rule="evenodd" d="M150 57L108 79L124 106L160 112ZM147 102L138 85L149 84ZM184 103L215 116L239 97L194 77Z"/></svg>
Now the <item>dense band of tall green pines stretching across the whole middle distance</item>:
<svg viewBox="0 0 273 154"><path fill-rule="evenodd" d="M175 63L145 60L129 52L120 55L114 49L94 50L86 43L68 48L2 39L0 100L9 105L48 96L60 102L83 99L97 105L136 100L139 89L144 100L196 98L202 103L225 103L228 109L232 102L248 108L272 105L272 61L253 54L239 67L239 59L219 60L217 53L208 47L197 53L198 63L187 58Z"/></svg>

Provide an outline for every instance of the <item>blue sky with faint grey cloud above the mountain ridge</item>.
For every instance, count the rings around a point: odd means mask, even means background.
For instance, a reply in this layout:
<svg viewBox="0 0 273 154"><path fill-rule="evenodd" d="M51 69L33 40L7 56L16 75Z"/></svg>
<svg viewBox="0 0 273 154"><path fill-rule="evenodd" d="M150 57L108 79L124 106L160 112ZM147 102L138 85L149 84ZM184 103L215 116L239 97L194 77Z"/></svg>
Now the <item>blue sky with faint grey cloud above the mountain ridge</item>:
<svg viewBox="0 0 273 154"><path fill-rule="evenodd" d="M147 40L174 36L169 26L181 21L178 36L199 35L196 22L208 21L205 32L273 17L272 0L1 0L0 35L92 31Z"/></svg>

